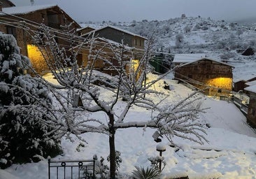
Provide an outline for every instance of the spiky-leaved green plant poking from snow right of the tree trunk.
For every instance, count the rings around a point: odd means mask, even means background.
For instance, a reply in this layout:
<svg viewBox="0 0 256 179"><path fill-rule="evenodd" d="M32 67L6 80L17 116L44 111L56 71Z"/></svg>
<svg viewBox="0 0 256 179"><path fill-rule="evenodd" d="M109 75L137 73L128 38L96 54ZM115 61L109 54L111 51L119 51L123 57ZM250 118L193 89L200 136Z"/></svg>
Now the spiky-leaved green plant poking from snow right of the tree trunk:
<svg viewBox="0 0 256 179"><path fill-rule="evenodd" d="M135 166L136 170L134 170L133 177L136 179L159 179L161 173L159 169L148 168L144 169L143 167Z"/></svg>

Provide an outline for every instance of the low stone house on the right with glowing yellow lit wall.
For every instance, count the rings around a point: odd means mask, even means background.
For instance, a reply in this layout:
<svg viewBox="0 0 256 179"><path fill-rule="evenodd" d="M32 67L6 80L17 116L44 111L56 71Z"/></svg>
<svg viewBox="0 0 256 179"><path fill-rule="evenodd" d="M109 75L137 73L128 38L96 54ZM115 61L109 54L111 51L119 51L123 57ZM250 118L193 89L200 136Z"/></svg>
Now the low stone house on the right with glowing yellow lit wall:
<svg viewBox="0 0 256 179"><path fill-rule="evenodd" d="M202 58L178 66L174 78L193 85L204 94L220 96L232 91L233 66Z"/></svg>

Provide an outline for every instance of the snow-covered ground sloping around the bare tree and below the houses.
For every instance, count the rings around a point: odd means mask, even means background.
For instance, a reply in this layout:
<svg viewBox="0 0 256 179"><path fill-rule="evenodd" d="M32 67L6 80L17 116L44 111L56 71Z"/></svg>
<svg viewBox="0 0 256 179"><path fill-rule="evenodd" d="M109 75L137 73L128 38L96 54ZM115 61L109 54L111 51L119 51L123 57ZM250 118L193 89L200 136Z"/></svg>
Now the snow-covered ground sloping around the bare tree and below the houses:
<svg viewBox="0 0 256 179"><path fill-rule="evenodd" d="M151 76L150 78L154 78ZM163 81L155 85L155 90L169 94L164 103L176 103L186 97L192 90L178 84L167 76L164 80L171 90L162 88ZM152 96L155 100L159 96ZM198 145L191 141L174 138L180 150L171 148L166 139L163 156L166 167L163 170L164 178L189 176L189 178L256 178L256 134L248 124L246 117L233 103L219 101L203 96L203 106L209 108L201 115L201 122L210 124L207 131L208 143ZM117 108L122 108L123 101ZM98 118L105 118L101 113L95 113ZM127 120L147 120L150 110L133 107L127 115ZM149 157L156 157L157 143L152 138L155 129L141 128L119 129L116 136L116 150L121 152L122 163L120 171L131 174L134 166L150 166ZM55 159L91 159L94 154L106 159L108 156L108 136L104 134L83 134L87 143L73 138L71 142L62 138L64 154ZM78 147L80 143L84 147ZM79 151L79 152L78 152ZM54 172L54 171L53 171ZM48 162L44 161L30 164L15 164L8 169L0 170L1 179L27 179L48 178Z"/></svg>

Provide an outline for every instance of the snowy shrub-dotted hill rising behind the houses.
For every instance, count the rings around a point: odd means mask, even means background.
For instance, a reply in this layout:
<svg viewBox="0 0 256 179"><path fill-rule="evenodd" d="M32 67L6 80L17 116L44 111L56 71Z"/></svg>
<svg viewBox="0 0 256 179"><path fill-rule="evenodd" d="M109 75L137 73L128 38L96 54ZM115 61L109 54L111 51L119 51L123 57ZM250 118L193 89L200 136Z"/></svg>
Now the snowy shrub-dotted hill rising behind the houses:
<svg viewBox="0 0 256 179"><path fill-rule="evenodd" d="M210 17L176 17L169 20L89 24L102 27L111 24L150 38L155 36L155 51L217 54L220 59L241 60L248 47L256 50L256 24L212 20ZM83 24L86 26L88 24ZM249 57L250 58L250 57Z"/></svg>

